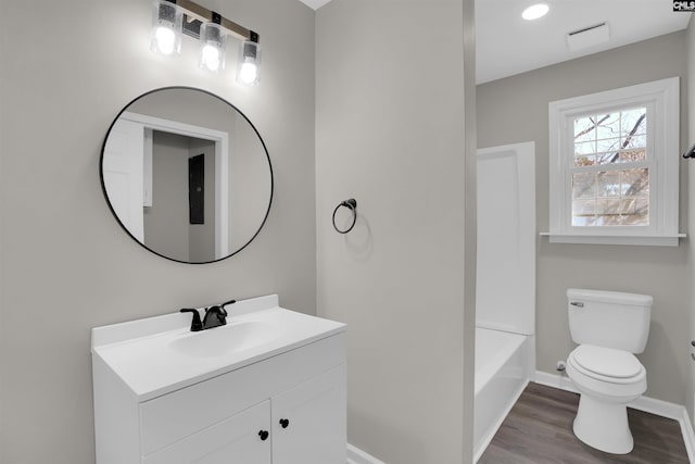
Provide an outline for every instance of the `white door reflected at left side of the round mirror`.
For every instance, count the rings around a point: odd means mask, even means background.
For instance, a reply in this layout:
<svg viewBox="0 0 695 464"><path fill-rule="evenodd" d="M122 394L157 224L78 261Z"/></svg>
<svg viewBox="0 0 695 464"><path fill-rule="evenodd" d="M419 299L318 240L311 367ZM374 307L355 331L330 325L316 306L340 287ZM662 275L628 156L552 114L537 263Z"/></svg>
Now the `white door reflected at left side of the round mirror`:
<svg viewBox="0 0 695 464"><path fill-rule="evenodd" d="M104 147L104 188L116 216L140 243L144 243L143 156L144 127L118 118Z"/></svg>

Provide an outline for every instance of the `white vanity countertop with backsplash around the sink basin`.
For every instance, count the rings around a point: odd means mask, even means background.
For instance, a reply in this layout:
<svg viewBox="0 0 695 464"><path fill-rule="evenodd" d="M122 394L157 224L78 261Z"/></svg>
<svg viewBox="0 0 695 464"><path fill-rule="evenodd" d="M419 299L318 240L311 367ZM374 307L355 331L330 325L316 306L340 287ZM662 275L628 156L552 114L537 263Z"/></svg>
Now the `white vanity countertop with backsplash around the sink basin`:
<svg viewBox="0 0 695 464"><path fill-rule="evenodd" d="M92 356L103 361L138 401L178 390L220 374L344 331L346 326L279 306L277 296L239 301L227 306L227 326L190 331L191 314L167 314L92 329ZM213 356L187 355L172 342L190 337L222 335L235 325L273 326L263 342ZM217 337L219 338L219 337ZM185 340L195 342L203 338Z"/></svg>

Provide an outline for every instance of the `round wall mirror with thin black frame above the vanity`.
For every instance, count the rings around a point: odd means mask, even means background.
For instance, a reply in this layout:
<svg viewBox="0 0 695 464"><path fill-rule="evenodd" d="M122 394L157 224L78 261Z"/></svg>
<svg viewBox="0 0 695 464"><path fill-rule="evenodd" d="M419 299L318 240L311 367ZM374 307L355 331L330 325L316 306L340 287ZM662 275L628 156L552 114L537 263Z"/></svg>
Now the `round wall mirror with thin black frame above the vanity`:
<svg viewBox="0 0 695 464"><path fill-rule="evenodd" d="M123 228L148 250L210 263L265 223L273 167L251 121L204 90L167 87L131 101L101 151L101 184Z"/></svg>

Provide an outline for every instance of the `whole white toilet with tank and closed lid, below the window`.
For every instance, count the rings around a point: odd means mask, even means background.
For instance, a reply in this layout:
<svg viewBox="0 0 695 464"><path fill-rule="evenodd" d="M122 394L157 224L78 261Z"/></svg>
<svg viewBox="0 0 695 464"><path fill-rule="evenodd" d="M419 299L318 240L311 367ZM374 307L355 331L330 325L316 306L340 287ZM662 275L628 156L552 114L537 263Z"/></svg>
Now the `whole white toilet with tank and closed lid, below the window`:
<svg viewBox="0 0 695 464"><path fill-rule="evenodd" d="M627 454L634 441L627 405L647 389L641 353L649 335L653 298L570 288L567 309L572 340L567 376L580 393L573 431L597 450Z"/></svg>

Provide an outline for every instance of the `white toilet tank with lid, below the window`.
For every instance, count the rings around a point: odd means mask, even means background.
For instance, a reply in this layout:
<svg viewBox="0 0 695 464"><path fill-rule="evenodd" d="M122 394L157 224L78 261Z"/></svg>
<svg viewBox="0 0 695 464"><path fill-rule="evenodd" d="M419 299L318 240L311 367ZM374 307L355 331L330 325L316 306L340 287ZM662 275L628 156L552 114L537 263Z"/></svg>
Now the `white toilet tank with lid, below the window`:
<svg viewBox="0 0 695 464"><path fill-rule="evenodd" d="M568 288L572 340L641 353L649 336L653 301L648 294Z"/></svg>

